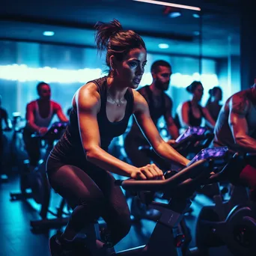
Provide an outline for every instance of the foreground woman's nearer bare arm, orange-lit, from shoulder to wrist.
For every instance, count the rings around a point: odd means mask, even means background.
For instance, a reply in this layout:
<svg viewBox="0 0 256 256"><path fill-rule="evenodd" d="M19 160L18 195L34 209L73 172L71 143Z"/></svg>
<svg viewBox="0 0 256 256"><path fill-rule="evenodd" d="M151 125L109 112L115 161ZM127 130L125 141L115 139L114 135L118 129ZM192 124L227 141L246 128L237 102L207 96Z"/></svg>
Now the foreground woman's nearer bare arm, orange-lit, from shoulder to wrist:
<svg viewBox="0 0 256 256"><path fill-rule="evenodd" d="M97 91L97 85L94 83L84 85L76 93L75 101L86 159L106 171L131 177L132 171L136 169L134 166L115 158L100 147L100 131L97 122L100 94Z"/></svg>

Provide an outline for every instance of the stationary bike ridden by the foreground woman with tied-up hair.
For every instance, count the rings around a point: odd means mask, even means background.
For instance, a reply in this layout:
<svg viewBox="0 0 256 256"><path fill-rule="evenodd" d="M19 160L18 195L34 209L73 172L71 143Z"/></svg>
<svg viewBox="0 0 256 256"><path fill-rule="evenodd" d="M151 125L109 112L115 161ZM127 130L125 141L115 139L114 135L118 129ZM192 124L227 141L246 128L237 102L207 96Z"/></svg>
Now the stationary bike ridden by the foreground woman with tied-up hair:
<svg viewBox="0 0 256 256"><path fill-rule="evenodd" d="M219 157L216 150L210 150L207 154L200 154L197 158L192 159L183 170L179 172L168 171L165 174L166 180L117 180L115 182L116 186L122 186L125 190L140 192L140 194L144 192L144 196L141 197L144 198L143 203L159 210L162 214L156 222L156 227L146 246L139 246L118 253L110 246L109 241L102 239L97 222L91 223L83 233L85 235L82 243L84 244L85 253L90 251L91 256L182 255L181 248L185 238L182 228L180 228L180 221L191 204L189 198L212 175L210 172L213 171L214 162L218 161ZM147 194L155 192L162 192L163 198L168 203L159 203L148 199ZM78 256L85 255L82 250L80 252L80 254L77 254Z"/></svg>

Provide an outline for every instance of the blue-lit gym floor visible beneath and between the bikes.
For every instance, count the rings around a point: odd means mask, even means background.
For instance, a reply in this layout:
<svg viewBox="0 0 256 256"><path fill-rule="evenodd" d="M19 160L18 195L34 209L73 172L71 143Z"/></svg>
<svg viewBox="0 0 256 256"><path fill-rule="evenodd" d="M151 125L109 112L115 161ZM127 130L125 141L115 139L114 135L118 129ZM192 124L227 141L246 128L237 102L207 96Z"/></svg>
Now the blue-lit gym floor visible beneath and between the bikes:
<svg viewBox="0 0 256 256"><path fill-rule="evenodd" d="M10 192L19 190L19 178L16 175L9 177L6 183L0 183L0 256L49 256L48 240L55 230L46 234L33 234L30 228L30 221L40 219L37 205L32 201L10 201ZM51 208L58 206L60 198L53 195ZM200 204L198 204L200 202ZM199 198L192 204L193 213L186 216L187 225L195 232L196 213L202 204L207 204L206 198ZM141 246L147 243L155 226L154 222L144 220L141 225L132 225L132 229L117 246L116 251ZM192 240L191 246L194 246ZM212 249L210 256L231 256L225 247ZM171 256L171 255L170 255Z"/></svg>

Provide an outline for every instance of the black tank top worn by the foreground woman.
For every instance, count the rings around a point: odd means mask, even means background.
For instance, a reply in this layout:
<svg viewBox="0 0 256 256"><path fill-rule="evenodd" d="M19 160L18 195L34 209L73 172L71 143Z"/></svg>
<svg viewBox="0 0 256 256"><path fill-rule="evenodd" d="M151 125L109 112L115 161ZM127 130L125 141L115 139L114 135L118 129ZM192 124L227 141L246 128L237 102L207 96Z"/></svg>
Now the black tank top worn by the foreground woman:
<svg viewBox="0 0 256 256"><path fill-rule="evenodd" d="M128 88L124 95L127 100L127 107L125 110L124 118L118 122L110 122L106 115L106 101L107 101L107 77L95 79L91 82L97 85L100 93L100 112L97 114L97 121L100 129L100 147L108 150L109 144L112 139L122 135L127 129L128 121L132 115L133 109L133 93L132 89ZM61 159L70 162L71 159L78 161L85 161L85 152L82 146L82 140L79 135L79 124L77 112L72 109L70 112L70 122L67 126L64 135L55 145L50 157L54 159ZM73 161L71 161L73 162Z"/></svg>

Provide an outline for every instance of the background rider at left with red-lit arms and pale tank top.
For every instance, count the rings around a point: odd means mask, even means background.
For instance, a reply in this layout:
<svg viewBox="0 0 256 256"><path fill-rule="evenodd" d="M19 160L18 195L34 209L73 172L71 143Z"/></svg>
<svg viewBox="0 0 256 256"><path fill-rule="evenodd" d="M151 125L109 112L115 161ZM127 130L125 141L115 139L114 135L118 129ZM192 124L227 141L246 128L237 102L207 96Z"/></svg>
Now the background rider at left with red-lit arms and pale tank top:
<svg viewBox="0 0 256 256"><path fill-rule="evenodd" d="M40 139L32 138L34 132L43 135L47 132L49 124L54 115L63 122L67 122L67 118L58 103L51 99L51 88L46 82L40 82L37 85L37 94L39 98L33 100L26 106L26 126L23 132L25 149L28 153L31 168L37 166L40 160Z"/></svg>

